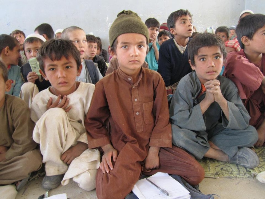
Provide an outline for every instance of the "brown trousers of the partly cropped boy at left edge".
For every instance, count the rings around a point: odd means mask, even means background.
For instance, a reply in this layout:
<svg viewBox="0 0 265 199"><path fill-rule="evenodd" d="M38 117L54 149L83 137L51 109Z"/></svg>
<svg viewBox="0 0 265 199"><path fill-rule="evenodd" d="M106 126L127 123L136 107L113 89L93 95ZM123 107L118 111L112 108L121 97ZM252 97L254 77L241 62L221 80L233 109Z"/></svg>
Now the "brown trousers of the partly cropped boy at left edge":
<svg viewBox="0 0 265 199"><path fill-rule="evenodd" d="M29 173L42 167L42 156L38 149L0 162L0 185L9 185L20 181Z"/></svg>

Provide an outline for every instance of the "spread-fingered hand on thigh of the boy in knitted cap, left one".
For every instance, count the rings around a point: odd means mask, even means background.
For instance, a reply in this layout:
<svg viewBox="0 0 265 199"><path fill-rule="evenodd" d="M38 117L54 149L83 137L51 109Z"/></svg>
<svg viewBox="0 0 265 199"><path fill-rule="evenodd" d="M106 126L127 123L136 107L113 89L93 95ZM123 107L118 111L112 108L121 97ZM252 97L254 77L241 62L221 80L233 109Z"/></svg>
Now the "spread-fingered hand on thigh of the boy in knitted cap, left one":
<svg viewBox="0 0 265 199"><path fill-rule="evenodd" d="M103 173L105 173L105 172L109 173L109 169L113 170L111 157L112 157L113 161L115 162L117 159L117 156L118 156L118 152L110 144L105 145L105 146L101 146L101 148L104 151L104 154L102 156L102 160L100 163L100 169L102 170Z"/></svg>

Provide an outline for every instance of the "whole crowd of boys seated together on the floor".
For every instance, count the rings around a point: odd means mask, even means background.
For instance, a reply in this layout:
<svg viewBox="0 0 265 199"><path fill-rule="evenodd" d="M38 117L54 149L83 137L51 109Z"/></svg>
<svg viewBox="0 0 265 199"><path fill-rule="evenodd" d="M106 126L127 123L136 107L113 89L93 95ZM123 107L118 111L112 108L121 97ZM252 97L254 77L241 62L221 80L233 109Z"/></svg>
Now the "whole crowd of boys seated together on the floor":
<svg viewBox="0 0 265 199"><path fill-rule="evenodd" d="M109 63L100 38L77 26L1 34L0 185L21 190L43 163L44 189L72 179L122 199L141 174L198 185L203 157L257 167L265 15L244 10L236 28L195 32L188 10L161 25L123 10L109 30Z"/></svg>

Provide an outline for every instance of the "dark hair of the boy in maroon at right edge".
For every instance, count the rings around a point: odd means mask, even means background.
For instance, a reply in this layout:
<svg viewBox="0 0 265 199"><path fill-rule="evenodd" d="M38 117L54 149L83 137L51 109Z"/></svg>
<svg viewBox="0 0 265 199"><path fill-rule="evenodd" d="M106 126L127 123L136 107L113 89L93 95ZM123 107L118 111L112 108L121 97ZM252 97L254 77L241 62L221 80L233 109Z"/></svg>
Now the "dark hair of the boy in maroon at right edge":
<svg viewBox="0 0 265 199"><path fill-rule="evenodd" d="M265 26L265 15L264 14L249 14L239 20L238 25L235 28L235 33L237 35L237 40L242 49L244 49L244 44L241 41L243 36L249 39L253 38L253 35Z"/></svg>

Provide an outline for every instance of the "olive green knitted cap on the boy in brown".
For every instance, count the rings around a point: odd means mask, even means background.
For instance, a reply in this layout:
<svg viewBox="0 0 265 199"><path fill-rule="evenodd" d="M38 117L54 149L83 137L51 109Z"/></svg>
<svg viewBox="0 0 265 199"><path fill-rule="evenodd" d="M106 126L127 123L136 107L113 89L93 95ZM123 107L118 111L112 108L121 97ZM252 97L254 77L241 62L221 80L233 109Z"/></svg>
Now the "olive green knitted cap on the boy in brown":
<svg viewBox="0 0 265 199"><path fill-rule="evenodd" d="M131 10L123 10L114 20L109 29L109 43L113 45L115 39L121 34L125 33L139 33L143 34L148 40L147 26L142 22L141 18Z"/></svg>

